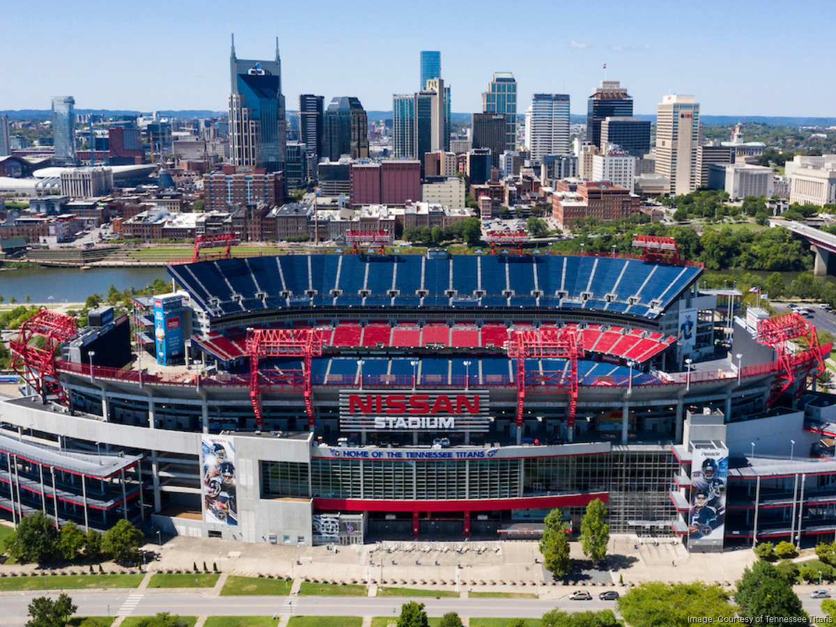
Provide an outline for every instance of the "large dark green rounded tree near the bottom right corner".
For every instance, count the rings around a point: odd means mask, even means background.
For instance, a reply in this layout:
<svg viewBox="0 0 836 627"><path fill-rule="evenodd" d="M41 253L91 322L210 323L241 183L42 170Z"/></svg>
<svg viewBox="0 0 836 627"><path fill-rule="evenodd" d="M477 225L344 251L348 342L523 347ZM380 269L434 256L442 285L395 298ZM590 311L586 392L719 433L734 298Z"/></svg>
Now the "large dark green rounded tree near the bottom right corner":
<svg viewBox="0 0 836 627"><path fill-rule="evenodd" d="M734 599L740 605L740 615L747 619L801 618L807 616L801 607L801 599L793 592L792 583L779 573L771 563L759 559L746 568L737 582ZM623 614L623 613L622 613ZM624 616L627 619L626 616ZM630 621L630 619L627 619Z"/></svg>

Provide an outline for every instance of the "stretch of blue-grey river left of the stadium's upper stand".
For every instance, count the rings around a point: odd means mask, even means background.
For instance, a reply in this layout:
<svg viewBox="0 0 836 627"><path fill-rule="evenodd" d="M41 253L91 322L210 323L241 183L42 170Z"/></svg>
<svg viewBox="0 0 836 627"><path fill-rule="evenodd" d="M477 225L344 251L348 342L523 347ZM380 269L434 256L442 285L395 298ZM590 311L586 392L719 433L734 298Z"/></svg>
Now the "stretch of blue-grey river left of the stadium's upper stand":
<svg viewBox="0 0 836 627"><path fill-rule="evenodd" d="M166 268L22 268L0 270L0 295L8 303L10 297L24 303L26 295L33 303L81 303L90 294L104 296L108 288L145 288L161 278L171 281Z"/></svg>

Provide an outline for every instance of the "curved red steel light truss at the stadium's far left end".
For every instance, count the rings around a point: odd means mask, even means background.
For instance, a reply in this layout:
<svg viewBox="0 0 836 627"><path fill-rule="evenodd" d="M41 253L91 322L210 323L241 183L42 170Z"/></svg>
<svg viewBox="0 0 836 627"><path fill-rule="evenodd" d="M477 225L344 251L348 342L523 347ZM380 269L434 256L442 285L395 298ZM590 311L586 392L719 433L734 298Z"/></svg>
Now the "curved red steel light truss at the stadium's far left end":
<svg viewBox="0 0 836 627"><path fill-rule="evenodd" d="M55 368L55 351L59 344L69 342L78 335L79 328L72 316L41 309L20 325L18 339L9 342L12 368L38 392L44 402L48 395L53 394L60 403L69 405L69 395L61 385ZM45 340L43 348L33 344L37 338Z"/></svg>

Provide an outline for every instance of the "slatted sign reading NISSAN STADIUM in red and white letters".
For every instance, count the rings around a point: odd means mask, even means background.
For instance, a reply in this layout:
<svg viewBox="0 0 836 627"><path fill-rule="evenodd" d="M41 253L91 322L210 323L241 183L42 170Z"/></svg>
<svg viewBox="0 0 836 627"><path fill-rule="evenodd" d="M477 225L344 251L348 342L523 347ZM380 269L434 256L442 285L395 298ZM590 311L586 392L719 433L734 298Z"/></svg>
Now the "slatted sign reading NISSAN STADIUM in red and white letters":
<svg viewBox="0 0 836 627"><path fill-rule="evenodd" d="M489 427L487 390L341 390L340 431L472 431Z"/></svg>

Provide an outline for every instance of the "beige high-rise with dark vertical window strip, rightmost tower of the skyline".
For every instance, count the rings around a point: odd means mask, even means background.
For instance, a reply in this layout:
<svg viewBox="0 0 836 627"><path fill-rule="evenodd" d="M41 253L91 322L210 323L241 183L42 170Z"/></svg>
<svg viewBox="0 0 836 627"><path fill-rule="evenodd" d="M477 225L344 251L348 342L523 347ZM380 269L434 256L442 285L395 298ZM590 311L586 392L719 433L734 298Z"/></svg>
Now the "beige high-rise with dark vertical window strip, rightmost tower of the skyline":
<svg viewBox="0 0 836 627"><path fill-rule="evenodd" d="M691 95L666 95L656 107L656 173L670 180L672 195L687 194L700 184L699 145L700 104Z"/></svg>

